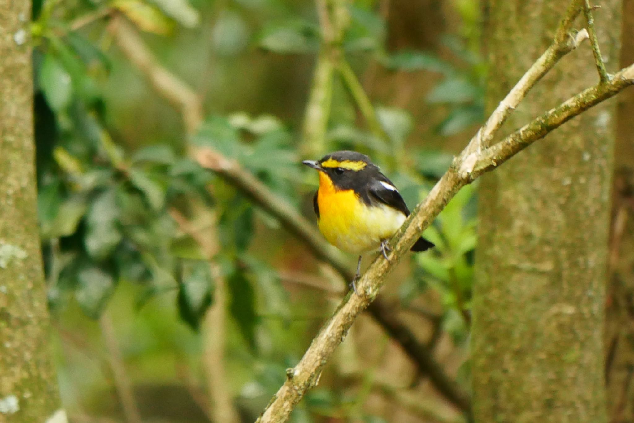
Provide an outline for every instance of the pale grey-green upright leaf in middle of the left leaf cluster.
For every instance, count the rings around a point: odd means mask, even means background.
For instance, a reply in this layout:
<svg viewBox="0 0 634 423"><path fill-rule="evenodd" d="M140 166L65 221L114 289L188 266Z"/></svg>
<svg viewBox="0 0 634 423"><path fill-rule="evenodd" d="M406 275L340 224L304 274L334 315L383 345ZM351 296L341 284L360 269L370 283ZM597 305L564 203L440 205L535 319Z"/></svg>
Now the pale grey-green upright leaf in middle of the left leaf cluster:
<svg viewBox="0 0 634 423"><path fill-rule="evenodd" d="M120 216L117 195L107 190L95 198L86 216L84 246L96 261L106 259L121 242L122 234L117 225Z"/></svg>

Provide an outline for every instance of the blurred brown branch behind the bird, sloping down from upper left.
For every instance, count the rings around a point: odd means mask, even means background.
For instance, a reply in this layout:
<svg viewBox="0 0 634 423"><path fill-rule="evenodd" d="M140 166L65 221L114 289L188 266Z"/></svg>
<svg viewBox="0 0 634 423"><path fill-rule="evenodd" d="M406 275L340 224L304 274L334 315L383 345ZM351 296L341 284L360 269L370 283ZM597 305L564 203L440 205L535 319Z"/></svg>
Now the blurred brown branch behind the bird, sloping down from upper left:
<svg viewBox="0 0 634 423"><path fill-rule="evenodd" d="M181 111L187 133L195 133L203 116L202 104L196 93L176 75L160 65L124 18L120 16L113 18L109 29L127 60L141 70L161 96ZM342 254L328 245L314 226L292 205L269 190L235 160L228 159L210 148L195 149L190 146L190 155L202 166L223 176L255 204L275 216L290 233L306 243L314 256L330 264L344 280L353 279L354 275L349 270L349 264ZM385 332L401 345L405 353L416 363L421 374L429 374L434 386L456 407L469 410L469 395L444 373L443 367L434 360L430 349L416 339L407 325L398 318L393 307L379 298L368 307L368 311Z"/></svg>

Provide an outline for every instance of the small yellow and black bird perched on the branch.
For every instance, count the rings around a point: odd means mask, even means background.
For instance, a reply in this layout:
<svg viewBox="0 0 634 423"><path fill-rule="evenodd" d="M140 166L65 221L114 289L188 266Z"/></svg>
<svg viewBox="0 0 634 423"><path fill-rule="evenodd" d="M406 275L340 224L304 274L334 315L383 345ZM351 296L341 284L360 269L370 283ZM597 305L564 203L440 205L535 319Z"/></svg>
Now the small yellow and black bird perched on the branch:
<svg viewBox="0 0 634 423"><path fill-rule="evenodd" d="M356 281L361 254L379 249L387 260L387 242L410 211L396 186L365 154L340 151L302 163L319 171L313 207L321 233L340 250L359 254ZM411 251L431 247L434 244L420 238Z"/></svg>

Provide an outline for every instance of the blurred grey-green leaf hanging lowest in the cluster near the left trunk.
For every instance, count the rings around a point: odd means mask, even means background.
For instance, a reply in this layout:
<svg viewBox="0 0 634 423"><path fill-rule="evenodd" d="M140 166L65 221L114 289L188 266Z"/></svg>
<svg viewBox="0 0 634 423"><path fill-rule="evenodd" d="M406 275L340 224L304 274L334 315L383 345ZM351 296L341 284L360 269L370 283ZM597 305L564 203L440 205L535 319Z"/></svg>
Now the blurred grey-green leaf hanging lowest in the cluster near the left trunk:
<svg viewBox="0 0 634 423"><path fill-rule="evenodd" d="M115 287L112 275L96 268L84 268L77 274L75 299L87 316L97 319Z"/></svg>

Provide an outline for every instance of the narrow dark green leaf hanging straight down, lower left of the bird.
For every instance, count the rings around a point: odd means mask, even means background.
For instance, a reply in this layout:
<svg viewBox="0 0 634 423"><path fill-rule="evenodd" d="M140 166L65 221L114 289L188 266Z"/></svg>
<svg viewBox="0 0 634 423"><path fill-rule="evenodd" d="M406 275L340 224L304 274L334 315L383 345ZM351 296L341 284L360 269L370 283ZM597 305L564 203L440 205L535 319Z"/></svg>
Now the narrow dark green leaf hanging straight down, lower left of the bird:
<svg viewBox="0 0 634 423"><path fill-rule="evenodd" d="M252 350L256 349L256 293L251 283L239 270L233 271L227 280L231 316Z"/></svg>

